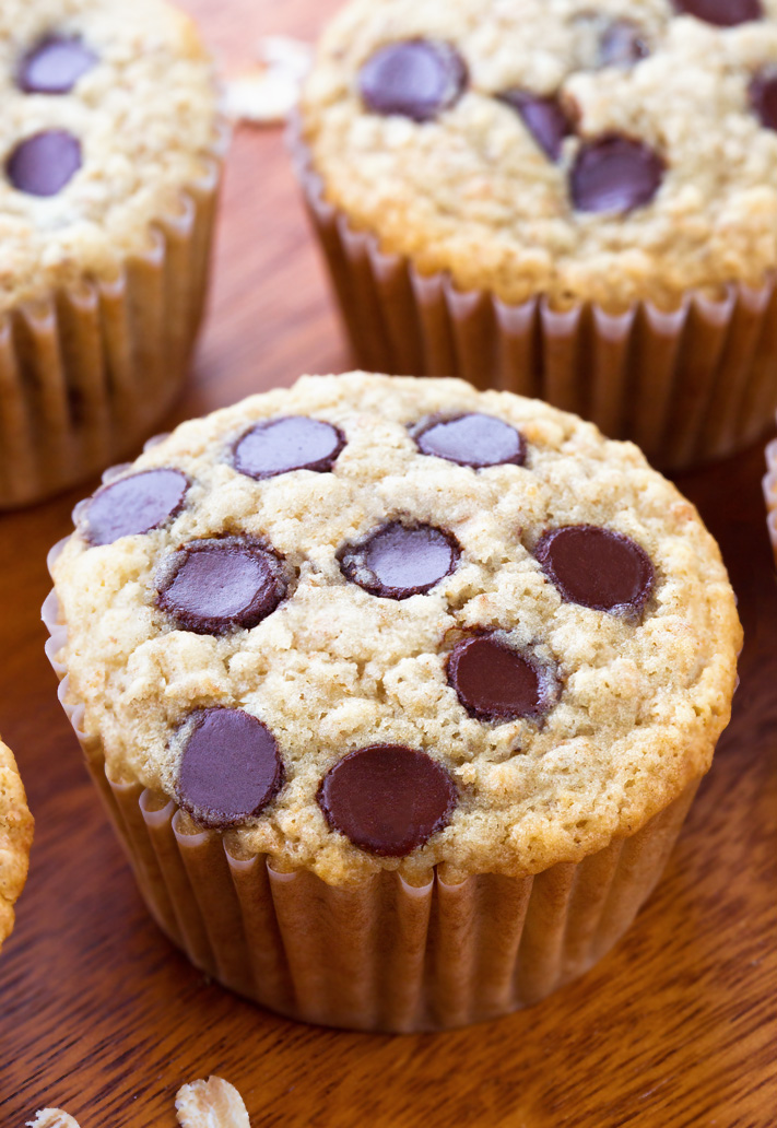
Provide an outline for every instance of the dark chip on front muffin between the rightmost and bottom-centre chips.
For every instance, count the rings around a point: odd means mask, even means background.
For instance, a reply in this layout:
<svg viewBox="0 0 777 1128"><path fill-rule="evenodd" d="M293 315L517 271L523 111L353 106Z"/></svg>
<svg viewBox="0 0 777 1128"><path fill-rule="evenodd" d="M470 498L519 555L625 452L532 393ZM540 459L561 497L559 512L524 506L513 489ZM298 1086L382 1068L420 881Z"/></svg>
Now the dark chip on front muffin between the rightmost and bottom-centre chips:
<svg viewBox="0 0 777 1128"><path fill-rule="evenodd" d="M482 721L537 716L550 704L539 668L492 635L454 646L448 681L467 712Z"/></svg>

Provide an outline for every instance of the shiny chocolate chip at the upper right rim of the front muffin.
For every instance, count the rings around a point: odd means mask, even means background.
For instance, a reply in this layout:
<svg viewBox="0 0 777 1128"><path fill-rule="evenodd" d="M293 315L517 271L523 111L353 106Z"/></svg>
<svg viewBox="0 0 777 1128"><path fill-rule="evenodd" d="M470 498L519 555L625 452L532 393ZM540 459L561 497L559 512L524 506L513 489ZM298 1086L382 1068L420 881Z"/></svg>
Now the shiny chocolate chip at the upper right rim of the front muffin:
<svg viewBox="0 0 777 1128"><path fill-rule="evenodd" d="M423 455L445 458L459 466L501 466L512 462L523 466L526 440L520 431L492 415L454 415L432 418L414 432Z"/></svg>

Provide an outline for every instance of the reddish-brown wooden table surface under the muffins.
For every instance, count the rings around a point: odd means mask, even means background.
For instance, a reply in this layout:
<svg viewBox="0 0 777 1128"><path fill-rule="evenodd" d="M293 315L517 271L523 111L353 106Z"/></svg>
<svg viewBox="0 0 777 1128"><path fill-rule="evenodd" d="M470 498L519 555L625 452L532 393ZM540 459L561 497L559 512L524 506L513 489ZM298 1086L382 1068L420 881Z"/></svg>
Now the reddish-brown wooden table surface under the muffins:
<svg viewBox="0 0 777 1128"><path fill-rule="evenodd" d="M188 0L228 65L311 38L335 0ZM212 316L168 423L348 359L279 131L238 133ZM202 975L157 931L80 763L43 655L47 547L76 494L0 518L0 732L37 819L0 957L0 1125L174 1128L217 1073L254 1128L774 1128L777 1123L777 600L753 450L680 482L719 538L748 642L734 720L665 880L627 938L535 1010L442 1036L295 1025Z"/></svg>

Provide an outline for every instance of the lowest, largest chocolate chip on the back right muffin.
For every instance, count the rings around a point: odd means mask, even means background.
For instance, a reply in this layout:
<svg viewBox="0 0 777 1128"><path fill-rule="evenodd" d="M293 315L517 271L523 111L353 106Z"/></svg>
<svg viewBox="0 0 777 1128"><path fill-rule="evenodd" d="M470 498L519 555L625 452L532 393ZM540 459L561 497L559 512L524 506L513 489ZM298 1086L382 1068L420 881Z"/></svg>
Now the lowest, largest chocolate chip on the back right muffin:
<svg viewBox="0 0 777 1128"><path fill-rule="evenodd" d="M608 136L584 144L572 169L571 190L579 211L627 212L651 202L664 165L642 141Z"/></svg>

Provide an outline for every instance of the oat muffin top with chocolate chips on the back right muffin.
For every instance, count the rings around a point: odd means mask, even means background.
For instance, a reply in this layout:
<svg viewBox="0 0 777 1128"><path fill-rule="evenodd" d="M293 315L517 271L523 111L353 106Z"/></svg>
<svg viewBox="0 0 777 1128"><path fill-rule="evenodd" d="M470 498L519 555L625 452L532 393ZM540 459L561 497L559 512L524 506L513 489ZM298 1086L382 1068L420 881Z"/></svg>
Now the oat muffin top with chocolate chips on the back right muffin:
<svg viewBox="0 0 777 1128"><path fill-rule="evenodd" d="M777 266L777 0L352 0L302 131L355 228L506 302Z"/></svg>

